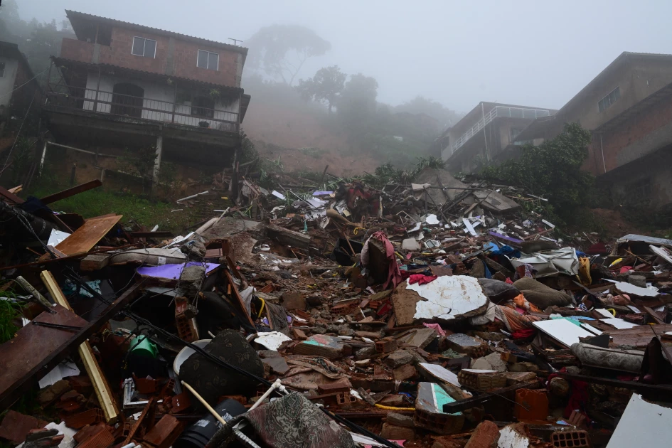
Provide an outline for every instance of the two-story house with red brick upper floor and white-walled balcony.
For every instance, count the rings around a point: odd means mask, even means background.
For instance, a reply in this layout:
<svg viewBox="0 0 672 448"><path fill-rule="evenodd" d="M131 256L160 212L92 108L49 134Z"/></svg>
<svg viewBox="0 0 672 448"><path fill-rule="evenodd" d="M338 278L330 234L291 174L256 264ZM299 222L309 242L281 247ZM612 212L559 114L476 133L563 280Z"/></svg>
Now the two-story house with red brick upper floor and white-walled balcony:
<svg viewBox="0 0 672 448"><path fill-rule="evenodd" d="M162 159L210 171L228 163L250 103L240 87L247 48L65 12L77 39L52 58L44 106L60 144L153 147L155 180Z"/></svg>

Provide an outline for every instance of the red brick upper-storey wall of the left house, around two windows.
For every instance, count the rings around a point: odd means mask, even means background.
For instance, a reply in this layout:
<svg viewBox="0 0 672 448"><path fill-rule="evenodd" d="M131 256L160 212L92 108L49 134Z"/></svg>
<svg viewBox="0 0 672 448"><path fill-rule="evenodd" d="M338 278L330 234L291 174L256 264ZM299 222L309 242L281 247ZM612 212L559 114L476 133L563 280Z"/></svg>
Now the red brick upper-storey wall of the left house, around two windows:
<svg viewBox="0 0 672 448"><path fill-rule="evenodd" d="M135 36L148 38L156 41L156 57L146 58L131 53L133 38ZM134 70L143 70L161 75L174 75L179 78L212 82L213 84L240 87L236 82L236 69L238 53L225 50L224 48L210 47L189 41L174 39L174 45L169 45L171 39L142 31L134 31L127 28L112 28L112 43L110 46L100 46L98 63L118 65ZM81 62L93 62L95 45L75 39L63 39L61 57L78 60ZM198 50L207 50L219 54L219 69L208 70L198 68L196 59Z"/></svg>

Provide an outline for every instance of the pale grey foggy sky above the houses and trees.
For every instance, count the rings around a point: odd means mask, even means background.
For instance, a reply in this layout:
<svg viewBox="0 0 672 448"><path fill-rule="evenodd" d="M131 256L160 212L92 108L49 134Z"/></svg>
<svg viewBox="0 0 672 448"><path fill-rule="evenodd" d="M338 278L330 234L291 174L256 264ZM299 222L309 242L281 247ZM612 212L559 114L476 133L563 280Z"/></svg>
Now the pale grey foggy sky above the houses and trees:
<svg viewBox="0 0 672 448"><path fill-rule="evenodd" d="M672 1L18 0L24 20L65 9L213 41L274 23L331 42L304 66L378 80L391 105L424 95L467 112L479 101L558 109L622 51L672 53ZM245 46L245 43L242 43Z"/></svg>

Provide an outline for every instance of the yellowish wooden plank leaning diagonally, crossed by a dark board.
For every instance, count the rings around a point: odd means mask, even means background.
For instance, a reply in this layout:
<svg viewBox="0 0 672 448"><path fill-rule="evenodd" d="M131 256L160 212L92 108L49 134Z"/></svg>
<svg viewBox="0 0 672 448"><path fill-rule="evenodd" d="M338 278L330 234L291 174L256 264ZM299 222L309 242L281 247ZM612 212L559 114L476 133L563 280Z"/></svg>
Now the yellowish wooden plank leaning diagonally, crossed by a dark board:
<svg viewBox="0 0 672 448"><path fill-rule="evenodd" d="M63 295L63 291L60 290L60 287L53 278L51 272L42 271L40 277L55 302L60 306L73 311L72 306L70 306L68 299ZM102 373L102 370L100 370L98 361L96 361L96 358L93 355L89 341L81 343L78 351L80 353L80 358L82 358L82 363L84 363L84 367L86 368L86 373L89 375L91 383L93 384L93 390L95 390L100 407L102 407L102 412L105 414L105 422L107 422L107 425L114 425L114 423L119 420L119 407L117 407L117 402L114 400L112 389L107 383L107 379Z"/></svg>

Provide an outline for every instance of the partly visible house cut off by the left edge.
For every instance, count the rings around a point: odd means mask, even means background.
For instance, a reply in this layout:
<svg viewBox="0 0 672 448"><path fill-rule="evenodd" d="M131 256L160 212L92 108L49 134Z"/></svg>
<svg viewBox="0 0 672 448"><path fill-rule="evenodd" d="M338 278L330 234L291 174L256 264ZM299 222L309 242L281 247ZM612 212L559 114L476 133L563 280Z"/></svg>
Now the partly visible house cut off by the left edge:
<svg viewBox="0 0 672 448"><path fill-rule="evenodd" d="M41 89L16 43L0 42L0 126L12 116L38 111Z"/></svg>

